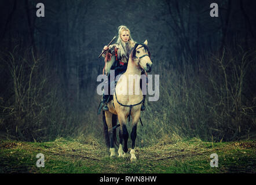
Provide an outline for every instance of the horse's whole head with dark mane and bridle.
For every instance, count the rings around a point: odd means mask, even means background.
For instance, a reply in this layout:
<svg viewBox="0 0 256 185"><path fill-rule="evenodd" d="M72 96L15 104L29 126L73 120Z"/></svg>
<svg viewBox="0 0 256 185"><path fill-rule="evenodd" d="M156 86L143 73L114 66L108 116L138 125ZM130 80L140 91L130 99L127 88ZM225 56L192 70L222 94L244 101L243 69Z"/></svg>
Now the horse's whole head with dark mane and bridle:
<svg viewBox="0 0 256 185"><path fill-rule="evenodd" d="M144 43L136 43L133 51L131 52L131 57L134 63L139 66L145 72L151 72L152 61L150 60L150 52L148 50L148 41L145 40Z"/></svg>

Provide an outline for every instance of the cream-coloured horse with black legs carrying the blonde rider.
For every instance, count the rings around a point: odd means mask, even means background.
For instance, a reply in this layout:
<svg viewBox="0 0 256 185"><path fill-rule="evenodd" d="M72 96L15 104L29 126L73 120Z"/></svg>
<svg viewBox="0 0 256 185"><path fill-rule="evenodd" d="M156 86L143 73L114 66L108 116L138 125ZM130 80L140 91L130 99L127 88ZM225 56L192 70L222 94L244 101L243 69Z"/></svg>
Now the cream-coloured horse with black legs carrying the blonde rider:
<svg viewBox="0 0 256 185"><path fill-rule="evenodd" d="M142 71L151 72L152 61L150 59L150 52L148 51L148 41L144 43L136 43L134 49L131 51L129 61L127 64L126 72L123 73L115 86L115 93L113 94L112 101L108 102L108 111L103 111L104 135L105 142L109 147L110 157L114 157L116 144L116 125L117 119L120 124L119 129L119 149L118 157L127 157L127 140L129 134L126 128L127 118L132 117L132 130L131 130L131 161L136 161L135 155L135 140L137 136L137 123L140 120L141 103L143 100L142 90L140 83L132 83L127 87L127 84L134 82L134 76L138 79L141 78ZM131 76L133 76L131 78ZM134 91L137 87L137 93ZM139 93L138 93L139 90ZM125 92L125 93L124 93ZM124 146L123 145L124 140ZM123 147L123 148L122 148Z"/></svg>

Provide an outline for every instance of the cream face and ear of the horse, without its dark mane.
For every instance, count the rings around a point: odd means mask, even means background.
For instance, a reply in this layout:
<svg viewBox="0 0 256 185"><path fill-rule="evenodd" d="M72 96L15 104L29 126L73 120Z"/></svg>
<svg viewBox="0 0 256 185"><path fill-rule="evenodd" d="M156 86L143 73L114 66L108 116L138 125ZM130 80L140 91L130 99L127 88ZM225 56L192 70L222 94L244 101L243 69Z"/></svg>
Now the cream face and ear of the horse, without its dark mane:
<svg viewBox="0 0 256 185"><path fill-rule="evenodd" d="M145 40L145 45L148 45L148 41ZM142 45L138 45L136 49L136 65L140 66L140 68L144 69L146 72L151 72L152 68L152 61L150 60L148 56L148 51L145 50L145 48Z"/></svg>

